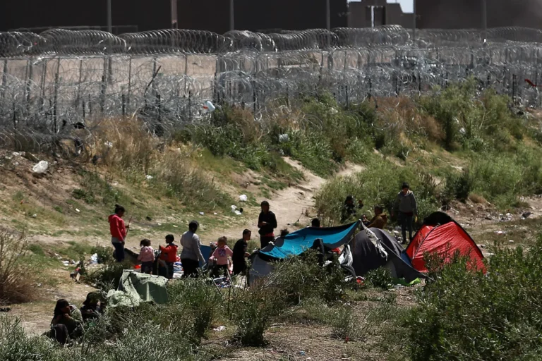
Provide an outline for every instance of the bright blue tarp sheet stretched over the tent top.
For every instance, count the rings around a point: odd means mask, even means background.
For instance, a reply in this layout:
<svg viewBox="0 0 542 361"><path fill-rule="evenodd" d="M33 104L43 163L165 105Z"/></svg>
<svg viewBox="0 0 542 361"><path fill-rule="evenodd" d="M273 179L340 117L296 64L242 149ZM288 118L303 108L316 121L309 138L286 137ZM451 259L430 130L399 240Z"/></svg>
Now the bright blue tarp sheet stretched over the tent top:
<svg viewBox="0 0 542 361"><path fill-rule="evenodd" d="M301 228L299 231L292 232L284 237L284 242L277 240L275 245L268 245L260 251L260 254L275 259L301 255L314 244L315 240L319 239L323 240L326 247L340 247L350 240L358 226L359 221L330 228Z"/></svg>

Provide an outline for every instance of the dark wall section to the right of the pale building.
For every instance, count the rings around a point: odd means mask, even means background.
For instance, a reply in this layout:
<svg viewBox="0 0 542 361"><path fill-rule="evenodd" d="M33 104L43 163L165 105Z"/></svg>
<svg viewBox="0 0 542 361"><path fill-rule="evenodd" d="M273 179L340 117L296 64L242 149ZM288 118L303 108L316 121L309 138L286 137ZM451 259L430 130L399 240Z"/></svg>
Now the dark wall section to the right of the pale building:
<svg viewBox="0 0 542 361"><path fill-rule="evenodd" d="M542 28L542 0L487 0L488 27ZM418 0L418 27L481 28L480 0Z"/></svg>

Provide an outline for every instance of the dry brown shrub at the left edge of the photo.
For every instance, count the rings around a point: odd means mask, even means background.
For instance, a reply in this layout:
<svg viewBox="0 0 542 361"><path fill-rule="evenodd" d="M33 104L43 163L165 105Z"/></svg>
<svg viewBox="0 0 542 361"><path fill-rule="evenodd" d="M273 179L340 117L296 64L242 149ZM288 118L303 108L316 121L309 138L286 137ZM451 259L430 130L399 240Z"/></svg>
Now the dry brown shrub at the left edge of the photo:
<svg viewBox="0 0 542 361"><path fill-rule="evenodd" d="M15 235L0 227L0 305L29 302L34 298L32 272L23 262L27 252L28 239L23 233Z"/></svg>

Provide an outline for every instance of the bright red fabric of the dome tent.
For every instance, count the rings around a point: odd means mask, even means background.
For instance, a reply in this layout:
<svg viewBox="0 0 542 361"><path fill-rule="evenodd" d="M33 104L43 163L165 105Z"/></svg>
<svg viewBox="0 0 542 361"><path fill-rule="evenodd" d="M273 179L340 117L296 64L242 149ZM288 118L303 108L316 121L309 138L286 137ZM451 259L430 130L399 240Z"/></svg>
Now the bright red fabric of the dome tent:
<svg viewBox="0 0 542 361"><path fill-rule="evenodd" d="M437 252L440 257L445 258L445 262L450 262L457 251L461 256L470 257L471 269L486 273L481 250L478 249L471 236L454 222L436 227L423 226L406 247L406 255L410 257L412 267L420 272L427 272L426 262L423 261L424 253Z"/></svg>

